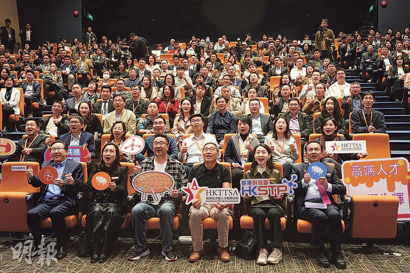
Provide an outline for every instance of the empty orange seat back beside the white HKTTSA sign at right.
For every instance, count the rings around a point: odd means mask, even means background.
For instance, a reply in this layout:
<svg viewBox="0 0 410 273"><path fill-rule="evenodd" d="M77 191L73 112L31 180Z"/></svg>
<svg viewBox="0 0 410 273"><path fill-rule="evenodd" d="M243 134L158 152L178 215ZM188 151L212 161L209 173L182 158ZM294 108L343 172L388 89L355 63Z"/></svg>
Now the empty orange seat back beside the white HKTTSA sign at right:
<svg viewBox="0 0 410 273"><path fill-rule="evenodd" d="M386 133L355 133L353 140L365 140L367 159L390 158L390 144Z"/></svg>

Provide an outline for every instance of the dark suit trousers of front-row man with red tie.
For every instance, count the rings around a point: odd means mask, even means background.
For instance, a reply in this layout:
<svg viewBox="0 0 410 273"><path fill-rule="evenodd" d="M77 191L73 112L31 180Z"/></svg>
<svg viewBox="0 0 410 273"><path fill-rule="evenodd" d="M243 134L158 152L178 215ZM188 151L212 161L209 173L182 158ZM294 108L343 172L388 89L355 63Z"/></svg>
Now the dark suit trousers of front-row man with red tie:
<svg viewBox="0 0 410 273"><path fill-rule="evenodd" d="M339 209L332 203L326 209L305 208L304 202L299 211L299 218L312 223L311 245L323 247L325 226L329 227L332 253L340 253L342 243L342 223Z"/></svg>

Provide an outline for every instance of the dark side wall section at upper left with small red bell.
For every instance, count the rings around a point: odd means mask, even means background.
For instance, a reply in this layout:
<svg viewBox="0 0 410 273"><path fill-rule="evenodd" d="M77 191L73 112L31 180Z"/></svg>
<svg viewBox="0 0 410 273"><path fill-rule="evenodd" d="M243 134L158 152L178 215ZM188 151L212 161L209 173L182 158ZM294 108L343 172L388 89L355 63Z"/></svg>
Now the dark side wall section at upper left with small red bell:
<svg viewBox="0 0 410 273"><path fill-rule="evenodd" d="M74 37L81 38L81 0L17 0L17 10L22 28L30 22L35 45L45 40L58 42L63 37L70 42ZM80 13L77 18L74 10Z"/></svg>

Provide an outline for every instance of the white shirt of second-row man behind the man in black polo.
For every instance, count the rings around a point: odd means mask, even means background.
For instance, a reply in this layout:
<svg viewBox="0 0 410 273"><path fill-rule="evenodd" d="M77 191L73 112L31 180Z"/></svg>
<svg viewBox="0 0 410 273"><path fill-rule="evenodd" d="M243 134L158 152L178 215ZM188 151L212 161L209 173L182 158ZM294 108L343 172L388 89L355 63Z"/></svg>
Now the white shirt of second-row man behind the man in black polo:
<svg viewBox="0 0 410 273"><path fill-rule="evenodd" d="M183 140L183 142L187 144L188 150L186 153L178 153L178 161L185 161L185 164L203 162L202 148L203 145L207 144L208 142L212 142L218 145L215 137L212 134L204 132L202 132L201 135L199 135L199 138L196 138L195 134L193 133L190 137Z"/></svg>

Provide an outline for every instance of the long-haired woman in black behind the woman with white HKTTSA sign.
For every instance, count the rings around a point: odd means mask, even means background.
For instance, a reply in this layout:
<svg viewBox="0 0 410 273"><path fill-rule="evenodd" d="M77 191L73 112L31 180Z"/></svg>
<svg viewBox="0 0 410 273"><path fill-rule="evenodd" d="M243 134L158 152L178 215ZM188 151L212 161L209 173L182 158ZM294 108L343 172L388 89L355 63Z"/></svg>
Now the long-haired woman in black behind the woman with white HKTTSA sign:
<svg viewBox="0 0 410 273"><path fill-rule="evenodd" d="M322 121L328 117L334 118L337 121L337 128L339 133L346 133L346 123L343 119L342 112L340 111L339 102L335 97L329 97L325 99L322 112L319 114L319 116L316 117L314 121L313 128L315 129L316 133L323 132L323 127L321 126L321 124Z"/></svg>

